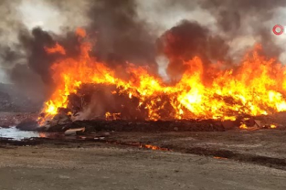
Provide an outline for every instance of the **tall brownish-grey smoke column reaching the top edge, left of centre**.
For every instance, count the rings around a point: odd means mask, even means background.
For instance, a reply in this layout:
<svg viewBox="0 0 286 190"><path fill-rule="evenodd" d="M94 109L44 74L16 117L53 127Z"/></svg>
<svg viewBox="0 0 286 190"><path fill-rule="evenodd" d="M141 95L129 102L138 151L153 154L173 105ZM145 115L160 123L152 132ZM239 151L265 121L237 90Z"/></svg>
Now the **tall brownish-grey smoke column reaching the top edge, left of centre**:
<svg viewBox="0 0 286 190"><path fill-rule="evenodd" d="M97 32L95 55L114 66L129 61L156 68L155 36L145 21L138 18L136 6L133 0L91 3L88 30Z"/></svg>

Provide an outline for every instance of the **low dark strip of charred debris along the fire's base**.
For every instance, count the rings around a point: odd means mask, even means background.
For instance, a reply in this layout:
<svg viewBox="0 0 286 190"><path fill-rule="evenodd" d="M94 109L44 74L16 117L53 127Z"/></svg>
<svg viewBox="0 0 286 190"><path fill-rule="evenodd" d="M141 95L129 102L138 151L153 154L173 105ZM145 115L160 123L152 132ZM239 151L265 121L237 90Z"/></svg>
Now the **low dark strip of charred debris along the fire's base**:
<svg viewBox="0 0 286 190"><path fill-rule="evenodd" d="M128 120L77 120L64 125L47 128L50 132L66 129L85 128L85 132L186 132L224 131L225 128L214 120L173 120L173 121L128 121Z"/></svg>

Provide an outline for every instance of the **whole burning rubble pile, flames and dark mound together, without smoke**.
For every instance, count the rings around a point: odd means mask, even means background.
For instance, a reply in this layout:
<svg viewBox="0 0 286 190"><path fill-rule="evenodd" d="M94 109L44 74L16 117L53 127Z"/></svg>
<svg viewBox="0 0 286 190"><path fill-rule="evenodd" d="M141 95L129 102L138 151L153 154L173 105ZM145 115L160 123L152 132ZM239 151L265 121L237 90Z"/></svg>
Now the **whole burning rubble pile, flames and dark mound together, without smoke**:
<svg viewBox="0 0 286 190"><path fill-rule="evenodd" d="M248 53L235 69L218 65L205 68L195 57L183 61L185 71L174 84L163 82L147 68L126 63L121 78L114 68L89 56L92 44L85 30L78 29L81 53L66 57L66 50L56 43L45 48L62 58L52 65L56 90L45 103L40 125L71 125L76 120L231 120L244 115L269 115L286 110L284 65L261 56L261 46ZM209 78L205 81L204 75ZM261 125L241 120L241 128ZM248 124L247 124L248 123ZM254 124L255 123L255 124ZM179 124L186 125L186 124ZM210 126L216 126L210 124ZM175 127L177 129L177 127Z"/></svg>

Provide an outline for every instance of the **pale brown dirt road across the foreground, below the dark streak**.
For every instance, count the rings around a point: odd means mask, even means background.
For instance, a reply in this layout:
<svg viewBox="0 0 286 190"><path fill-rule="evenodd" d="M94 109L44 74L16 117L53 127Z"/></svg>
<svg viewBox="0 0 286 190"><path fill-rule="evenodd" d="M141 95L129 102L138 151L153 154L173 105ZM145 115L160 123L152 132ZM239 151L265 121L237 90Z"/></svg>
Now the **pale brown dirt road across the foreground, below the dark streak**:
<svg viewBox="0 0 286 190"><path fill-rule="evenodd" d="M191 154L44 145L0 148L1 190L286 189L286 172Z"/></svg>

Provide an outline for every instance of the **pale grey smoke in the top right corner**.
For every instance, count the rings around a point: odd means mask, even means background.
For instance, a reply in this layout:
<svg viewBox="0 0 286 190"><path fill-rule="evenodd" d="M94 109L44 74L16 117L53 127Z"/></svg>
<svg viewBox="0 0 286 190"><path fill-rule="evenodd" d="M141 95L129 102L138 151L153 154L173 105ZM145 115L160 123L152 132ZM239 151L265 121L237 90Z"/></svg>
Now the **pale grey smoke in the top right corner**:
<svg viewBox="0 0 286 190"><path fill-rule="evenodd" d="M218 27L224 32L228 40L234 37L252 33L257 42L260 42L268 56L280 56L282 49L275 45L275 36L272 34L272 25L267 25L273 19L279 8L286 7L284 0L202 0L202 8L215 16Z"/></svg>

